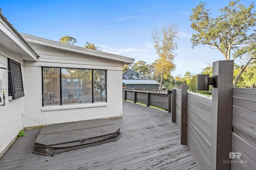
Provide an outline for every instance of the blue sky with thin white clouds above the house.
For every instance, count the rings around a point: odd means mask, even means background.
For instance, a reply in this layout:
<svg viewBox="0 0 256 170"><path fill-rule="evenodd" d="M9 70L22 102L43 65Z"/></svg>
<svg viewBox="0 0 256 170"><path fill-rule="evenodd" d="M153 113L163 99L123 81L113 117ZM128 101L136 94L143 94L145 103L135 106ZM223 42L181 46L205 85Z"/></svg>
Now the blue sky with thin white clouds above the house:
<svg viewBox="0 0 256 170"><path fill-rule="evenodd" d="M174 52L173 76L192 74L224 56L206 45L192 49L192 8L206 2L212 16L229 0L0 0L2 13L19 32L58 41L65 34L86 41L102 51L152 63L157 59L152 45L153 27L178 23L180 39ZM247 7L254 0L241 0ZM255 5L255 4L254 4ZM255 8L254 8L255 10Z"/></svg>

